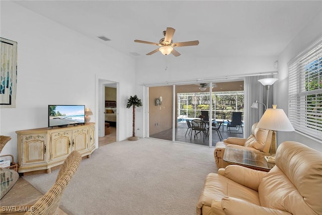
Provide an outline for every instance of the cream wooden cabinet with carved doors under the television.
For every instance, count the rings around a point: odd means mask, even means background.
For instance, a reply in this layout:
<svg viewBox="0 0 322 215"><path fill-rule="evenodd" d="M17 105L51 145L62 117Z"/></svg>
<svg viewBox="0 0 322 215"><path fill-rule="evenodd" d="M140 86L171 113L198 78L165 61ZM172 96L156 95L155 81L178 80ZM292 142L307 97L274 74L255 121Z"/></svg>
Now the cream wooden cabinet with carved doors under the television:
<svg viewBox="0 0 322 215"><path fill-rule="evenodd" d="M47 170L61 165L77 150L91 157L95 150L95 123L18 130L18 172Z"/></svg>

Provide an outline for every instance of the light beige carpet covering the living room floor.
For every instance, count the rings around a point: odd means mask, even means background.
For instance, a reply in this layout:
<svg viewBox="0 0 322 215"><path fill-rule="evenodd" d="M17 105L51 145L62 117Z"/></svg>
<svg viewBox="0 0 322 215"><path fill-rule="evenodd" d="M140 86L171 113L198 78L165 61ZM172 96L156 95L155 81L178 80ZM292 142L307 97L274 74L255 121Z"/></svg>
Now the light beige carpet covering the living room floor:
<svg viewBox="0 0 322 215"><path fill-rule="evenodd" d="M68 184L68 214L196 214L204 180L217 172L213 148L141 138L95 150ZM45 193L58 170L23 178Z"/></svg>

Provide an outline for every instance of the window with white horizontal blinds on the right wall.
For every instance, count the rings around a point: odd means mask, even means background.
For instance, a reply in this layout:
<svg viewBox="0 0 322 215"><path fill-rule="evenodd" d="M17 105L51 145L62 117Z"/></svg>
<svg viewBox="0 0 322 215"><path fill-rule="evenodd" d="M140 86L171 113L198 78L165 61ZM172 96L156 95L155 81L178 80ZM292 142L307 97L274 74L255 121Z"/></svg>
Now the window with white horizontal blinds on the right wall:
<svg viewBox="0 0 322 215"><path fill-rule="evenodd" d="M295 130L322 140L322 38L289 63L288 95Z"/></svg>

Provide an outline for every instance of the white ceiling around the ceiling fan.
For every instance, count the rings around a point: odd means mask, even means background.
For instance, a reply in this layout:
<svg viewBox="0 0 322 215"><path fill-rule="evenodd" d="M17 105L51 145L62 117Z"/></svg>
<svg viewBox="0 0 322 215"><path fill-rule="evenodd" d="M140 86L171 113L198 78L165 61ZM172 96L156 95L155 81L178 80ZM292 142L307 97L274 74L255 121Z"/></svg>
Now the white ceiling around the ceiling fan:
<svg viewBox="0 0 322 215"><path fill-rule="evenodd" d="M135 57L149 57L157 46L133 40L158 42L167 27L176 29L173 42L200 42L176 48L179 57L277 57L322 10L322 1L15 2L102 45L140 54Z"/></svg>

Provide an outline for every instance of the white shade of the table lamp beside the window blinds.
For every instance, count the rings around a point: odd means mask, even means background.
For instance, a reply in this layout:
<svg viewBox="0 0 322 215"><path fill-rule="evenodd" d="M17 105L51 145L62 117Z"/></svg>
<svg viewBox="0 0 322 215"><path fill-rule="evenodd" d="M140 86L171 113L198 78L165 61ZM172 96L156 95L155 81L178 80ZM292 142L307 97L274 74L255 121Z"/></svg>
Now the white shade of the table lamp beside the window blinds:
<svg viewBox="0 0 322 215"><path fill-rule="evenodd" d="M294 131L283 109L266 109L257 127L273 131Z"/></svg>

